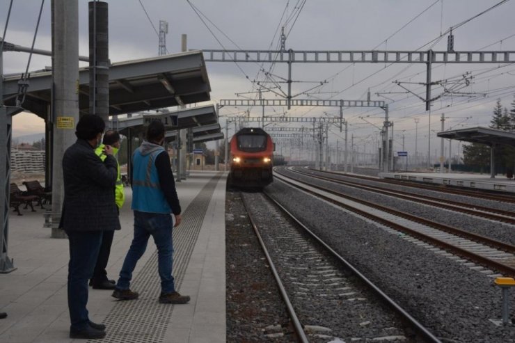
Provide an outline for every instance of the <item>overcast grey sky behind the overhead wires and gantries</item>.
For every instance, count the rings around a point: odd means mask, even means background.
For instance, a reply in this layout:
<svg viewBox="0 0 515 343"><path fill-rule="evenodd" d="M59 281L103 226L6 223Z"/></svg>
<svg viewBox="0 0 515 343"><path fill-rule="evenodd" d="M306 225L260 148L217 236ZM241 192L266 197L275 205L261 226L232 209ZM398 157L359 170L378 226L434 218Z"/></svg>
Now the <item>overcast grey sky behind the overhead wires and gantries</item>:
<svg viewBox="0 0 515 343"><path fill-rule="evenodd" d="M50 50L50 2L45 1L42 21L35 47ZM405 50L435 51L447 49L450 27L475 17L454 29L456 51L515 51L515 1L480 15L500 0L113 0L109 1L109 56L112 62L157 56L159 20L168 22L166 48L170 54L180 51L180 36L187 34L189 49L278 49L280 28L287 33L286 49L303 50ZM9 1L0 3L0 25L6 22ZM6 41L30 47L38 17L40 1L15 0ZM301 8L301 10L299 10ZM146 12L146 13L145 13ZM88 1L79 0L79 54L88 55ZM150 19L149 19L150 18ZM202 18L202 20L200 19ZM204 24L209 26L206 27ZM404 26L404 28L403 28ZM155 30L154 30L155 29ZM397 32L398 31L398 32ZM2 31L3 32L3 31ZM1 34L1 33L0 33ZM441 40L435 40L441 38ZM435 40L428 45L429 42ZM436 43L436 44L433 44ZM29 55L6 52L3 69L6 74L22 72ZM50 58L33 56L31 70L50 65ZM81 63L81 66L85 66ZM212 100L235 99L235 93L256 90L255 83L263 79L257 63L207 63ZM372 99L384 100L394 122L395 151L414 152L415 118L418 118L418 151L427 154L429 112L421 99L397 86L393 81L425 97L424 64L398 63L295 63L292 67L293 95L296 99L366 99L370 89ZM276 79L286 79L285 65L273 66ZM470 74L468 74L470 73ZM431 108L431 129L441 131L440 116L445 113L445 128L488 125L496 99L512 108L515 94L515 65L503 64L435 64L432 80L457 81L466 74L469 86L460 90L470 97L441 97ZM323 86L310 90L320 82ZM279 83L286 89L286 83ZM447 88L452 83L447 83ZM308 91L309 90L309 91ZM435 86L433 96L440 94ZM377 94L379 93L379 94ZM256 97L255 93L245 96ZM274 93L265 98L278 99ZM240 97L241 98L241 97ZM223 108L220 115L238 115L246 108ZM251 115L261 115L261 108L250 109ZM292 107L266 108L265 115L319 116L338 115L335 108ZM324 114L324 112L326 114ZM372 147L383 122L381 109L344 110L349 122L349 136L356 145ZM362 117L364 119L362 119ZM42 129L38 120L16 115L15 136ZM223 119L221 120L223 125ZM299 127L301 125L294 125ZM343 134L332 129L330 141L335 144ZM230 133L231 134L231 133ZM431 132L431 154L439 149L439 139ZM439 150L438 150L439 151Z"/></svg>

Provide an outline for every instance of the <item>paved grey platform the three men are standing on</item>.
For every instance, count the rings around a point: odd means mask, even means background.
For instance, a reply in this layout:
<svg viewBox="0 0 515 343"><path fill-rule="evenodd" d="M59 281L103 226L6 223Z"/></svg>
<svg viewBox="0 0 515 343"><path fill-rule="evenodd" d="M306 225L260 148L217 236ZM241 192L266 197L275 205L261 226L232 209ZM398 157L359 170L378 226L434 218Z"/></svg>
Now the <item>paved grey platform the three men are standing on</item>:
<svg viewBox="0 0 515 343"><path fill-rule="evenodd" d="M225 342L225 182L227 173L191 171L177 182L182 223L173 229L173 276L185 305L158 302L157 248L152 239L139 260L131 289L140 297L117 301L112 291L90 288L90 320L106 325L106 337L91 342ZM108 277L118 279L133 237L132 191L125 187ZM90 342L71 340L67 302L68 239L43 228L44 209L9 216L8 256L15 271L0 274L0 342Z"/></svg>

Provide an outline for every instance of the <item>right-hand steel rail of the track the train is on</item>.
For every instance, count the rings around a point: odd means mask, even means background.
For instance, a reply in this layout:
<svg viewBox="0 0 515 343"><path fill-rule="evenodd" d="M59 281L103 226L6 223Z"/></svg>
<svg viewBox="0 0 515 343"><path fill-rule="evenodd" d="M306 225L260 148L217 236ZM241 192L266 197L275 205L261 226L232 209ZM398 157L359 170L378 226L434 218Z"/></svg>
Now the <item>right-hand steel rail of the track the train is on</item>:
<svg viewBox="0 0 515 343"><path fill-rule="evenodd" d="M312 232L306 225L301 223L299 219L297 219L290 211L288 211L283 205L280 205L278 200L274 199L272 196L270 196L266 191L263 192L265 196L267 196L272 202L274 202L277 207L279 207L287 216L289 216L297 225L299 225L303 230L308 232L310 236L317 241L320 245L322 245L333 257L335 257L338 261L340 261L344 266L352 271L355 276L358 276L358 278L364 282L370 289L373 290L377 296L379 296L383 301L386 301L388 305L390 305L395 312L397 312L399 315L402 316L403 319L409 322L411 326L413 326L422 337L427 340L427 342L441 342L441 340L438 340L438 338L433 335L425 326L420 324L415 318L411 316L404 308L402 308L399 304L397 304L392 298L390 298L386 293L384 293L379 287L377 287L374 282L370 281L366 276L361 273L361 271L358 271L356 267L354 267L350 262L345 260L342 256L340 256L331 246L328 246L322 239L320 239L317 234Z"/></svg>

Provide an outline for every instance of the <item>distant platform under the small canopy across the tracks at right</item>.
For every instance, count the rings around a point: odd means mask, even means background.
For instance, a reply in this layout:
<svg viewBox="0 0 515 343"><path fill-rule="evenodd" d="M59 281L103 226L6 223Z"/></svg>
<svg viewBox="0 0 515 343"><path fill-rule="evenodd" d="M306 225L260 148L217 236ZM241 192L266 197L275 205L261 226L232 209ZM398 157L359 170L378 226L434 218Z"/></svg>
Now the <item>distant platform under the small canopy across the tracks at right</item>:
<svg viewBox="0 0 515 343"><path fill-rule="evenodd" d="M384 179L397 179L430 184L445 184L470 189L484 189L515 193L515 180L508 180L505 175L466 174L466 173L379 173Z"/></svg>

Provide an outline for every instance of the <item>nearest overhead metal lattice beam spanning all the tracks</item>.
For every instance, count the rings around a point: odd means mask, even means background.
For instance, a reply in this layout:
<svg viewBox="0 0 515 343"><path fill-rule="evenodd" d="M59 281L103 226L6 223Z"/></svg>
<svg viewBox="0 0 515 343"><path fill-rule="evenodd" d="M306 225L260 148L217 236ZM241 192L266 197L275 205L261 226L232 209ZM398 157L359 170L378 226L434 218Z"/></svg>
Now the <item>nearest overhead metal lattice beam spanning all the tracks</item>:
<svg viewBox="0 0 515 343"><path fill-rule="evenodd" d="M432 63L514 63L515 51L433 51ZM203 50L206 62L427 63L427 51Z"/></svg>

